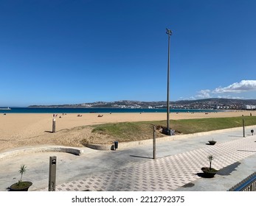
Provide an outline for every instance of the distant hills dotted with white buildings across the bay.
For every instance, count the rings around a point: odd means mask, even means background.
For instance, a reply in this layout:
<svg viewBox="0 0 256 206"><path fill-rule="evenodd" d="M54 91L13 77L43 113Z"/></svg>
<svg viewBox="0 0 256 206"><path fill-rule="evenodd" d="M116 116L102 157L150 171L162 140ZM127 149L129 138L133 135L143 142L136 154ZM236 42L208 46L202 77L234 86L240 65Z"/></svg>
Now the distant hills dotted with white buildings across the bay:
<svg viewBox="0 0 256 206"><path fill-rule="evenodd" d="M170 102L171 108L184 109L248 109L246 105L255 106L256 99L196 99L179 100ZM254 107L249 107L254 109ZM30 105L29 107L54 107L54 108L166 108L166 101L141 102L122 100L117 102L91 102L82 104L61 104L61 105Z"/></svg>

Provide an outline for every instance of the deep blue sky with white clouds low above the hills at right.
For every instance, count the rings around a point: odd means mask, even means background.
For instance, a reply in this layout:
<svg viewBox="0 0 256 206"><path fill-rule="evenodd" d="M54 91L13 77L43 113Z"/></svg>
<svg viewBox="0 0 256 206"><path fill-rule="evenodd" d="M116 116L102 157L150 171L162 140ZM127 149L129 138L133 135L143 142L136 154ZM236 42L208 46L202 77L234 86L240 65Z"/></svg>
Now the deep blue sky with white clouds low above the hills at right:
<svg viewBox="0 0 256 206"><path fill-rule="evenodd" d="M254 0L0 0L0 106L256 99Z"/></svg>

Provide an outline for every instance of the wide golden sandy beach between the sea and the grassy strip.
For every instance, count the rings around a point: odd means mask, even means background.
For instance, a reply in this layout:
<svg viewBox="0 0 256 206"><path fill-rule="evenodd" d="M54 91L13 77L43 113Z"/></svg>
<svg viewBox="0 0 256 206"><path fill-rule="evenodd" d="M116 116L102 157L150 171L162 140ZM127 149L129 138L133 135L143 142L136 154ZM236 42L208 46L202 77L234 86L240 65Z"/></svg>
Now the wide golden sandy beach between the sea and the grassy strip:
<svg viewBox="0 0 256 206"><path fill-rule="evenodd" d="M256 116L256 111L230 111L219 113L170 113L170 119L218 118L234 116ZM24 146L64 145L83 146L80 141L91 135L91 128L74 127L123 121L165 120L166 113L67 113L55 117L56 132L52 133L52 114L49 113L8 113L0 114L0 152Z"/></svg>

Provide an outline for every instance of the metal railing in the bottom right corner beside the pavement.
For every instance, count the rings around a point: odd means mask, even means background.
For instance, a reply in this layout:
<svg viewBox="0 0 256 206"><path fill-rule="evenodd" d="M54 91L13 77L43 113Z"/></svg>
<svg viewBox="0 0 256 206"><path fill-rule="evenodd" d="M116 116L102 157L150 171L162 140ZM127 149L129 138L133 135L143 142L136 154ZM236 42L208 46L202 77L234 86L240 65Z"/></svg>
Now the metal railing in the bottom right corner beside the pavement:
<svg viewBox="0 0 256 206"><path fill-rule="evenodd" d="M256 172L246 177L228 191L256 191Z"/></svg>

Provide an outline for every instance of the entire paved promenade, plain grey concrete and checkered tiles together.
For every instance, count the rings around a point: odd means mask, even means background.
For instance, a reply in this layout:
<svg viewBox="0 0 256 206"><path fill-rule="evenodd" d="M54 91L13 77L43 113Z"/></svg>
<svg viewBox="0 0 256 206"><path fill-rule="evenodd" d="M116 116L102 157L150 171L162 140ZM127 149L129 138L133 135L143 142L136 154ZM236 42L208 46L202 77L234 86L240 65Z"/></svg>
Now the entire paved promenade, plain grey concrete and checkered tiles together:
<svg viewBox="0 0 256 206"><path fill-rule="evenodd" d="M56 191L227 191L256 171L256 135L246 127L203 135L99 151L85 148L82 155L62 152L20 154L0 161L0 191L17 182L18 168L27 166L23 180L30 191L48 191L49 156L57 157ZM212 138L214 146L207 145ZM201 167L219 169L214 178L201 177Z"/></svg>

